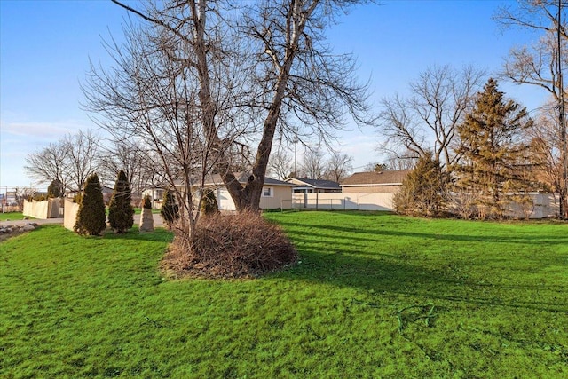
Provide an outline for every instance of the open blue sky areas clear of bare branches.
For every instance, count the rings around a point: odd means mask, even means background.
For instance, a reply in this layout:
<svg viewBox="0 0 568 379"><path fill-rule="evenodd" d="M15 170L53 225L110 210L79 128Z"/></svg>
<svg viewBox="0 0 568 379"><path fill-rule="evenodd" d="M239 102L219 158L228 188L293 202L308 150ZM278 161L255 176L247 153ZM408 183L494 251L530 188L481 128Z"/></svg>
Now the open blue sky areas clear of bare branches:
<svg viewBox="0 0 568 379"><path fill-rule="evenodd" d="M132 2L130 2L132 3ZM503 1L385 1L355 8L329 31L337 52L353 52L359 77L370 77L372 102L406 94L408 83L433 65L472 64L499 70L510 48L535 36L501 31L492 16ZM510 4L510 1L508 2ZM0 192L35 185L25 158L66 133L94 128L80 108L89 58L109 62L101 38L122 36L126 12L110 1L0 1ZM546 93L501 83L501 91L539 107ZM381 161L376 130L341 135L356 167ZM44 186L40 186L43 188Z"/></svg>

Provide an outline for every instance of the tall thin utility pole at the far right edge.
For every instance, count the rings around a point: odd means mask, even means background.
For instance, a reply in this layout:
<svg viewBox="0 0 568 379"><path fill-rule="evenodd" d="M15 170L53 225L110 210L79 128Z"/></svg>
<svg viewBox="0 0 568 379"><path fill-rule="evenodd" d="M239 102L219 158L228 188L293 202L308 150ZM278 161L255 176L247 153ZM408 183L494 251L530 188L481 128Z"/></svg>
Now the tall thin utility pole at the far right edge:
<svg viewBox="0 0 568 379"><path fill-rule="evenodd" d="M557 48L558 48L558 57L556 59L558 65L558 95L559 95L559 112L558 112L558 122L560 126L560 138L562 141L562 165L563 165L563 181L564 181L564 188L560 190L563 192L564 196L560 197L560 217L567 218L568 212L566 211L568 208L568 201L566 198L568 197L568 154L566 152L566 117L564 114L564 83L563 83L563 75L562 75L562 39L561 39L561 28L562 28L562 1L558 0L558 24L556 26L556 36L557 36Z"/></svg>

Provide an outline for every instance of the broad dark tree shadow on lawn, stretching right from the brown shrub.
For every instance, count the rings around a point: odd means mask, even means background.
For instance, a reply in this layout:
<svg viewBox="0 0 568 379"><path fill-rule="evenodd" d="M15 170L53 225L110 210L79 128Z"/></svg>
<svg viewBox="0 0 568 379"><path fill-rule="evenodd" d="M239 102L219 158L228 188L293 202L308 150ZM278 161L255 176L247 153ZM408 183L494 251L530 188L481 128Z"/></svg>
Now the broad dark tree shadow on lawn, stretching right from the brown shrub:
<svg viewBox="0 0 568 379"><path fill-rule="evenodd" d="M461 279L444 269L430 269L398 258L382 259L352 254L300 251L301 263L283 272L294 280L323 282L338 287L372 290L465 304L491 305L547 312L568 312L568 286L556 284L501 284ZM544 296L544 295L547 296ZM555 300L537 300L554 298ZM562 300L564 299L564 300Z"/></svg>

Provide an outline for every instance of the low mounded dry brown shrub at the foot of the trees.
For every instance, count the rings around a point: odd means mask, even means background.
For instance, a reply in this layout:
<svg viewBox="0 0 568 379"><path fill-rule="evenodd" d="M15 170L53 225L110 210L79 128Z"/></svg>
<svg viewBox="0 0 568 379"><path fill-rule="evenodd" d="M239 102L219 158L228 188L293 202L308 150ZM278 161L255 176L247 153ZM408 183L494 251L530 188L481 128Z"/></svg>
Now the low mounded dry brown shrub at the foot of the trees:
<svg viewBox="0 0 568 379"><path fill-rule="evenodd" d="M177 233L162 262L175 277L247 278L296 262L296 249L259 214L201 217L193 241Z"/></svg>

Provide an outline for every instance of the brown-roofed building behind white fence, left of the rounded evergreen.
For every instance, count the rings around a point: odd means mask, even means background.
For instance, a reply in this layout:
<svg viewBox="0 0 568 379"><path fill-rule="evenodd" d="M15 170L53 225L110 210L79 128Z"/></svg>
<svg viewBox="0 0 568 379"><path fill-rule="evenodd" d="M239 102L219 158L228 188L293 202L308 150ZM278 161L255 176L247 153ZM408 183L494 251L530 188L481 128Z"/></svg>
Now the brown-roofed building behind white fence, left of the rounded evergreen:
<svg viewBox="0 0 568 379"><path fill-rule="evenodd" d="M402 181L412 170L356 172L343 180L343 193L396 193Z"/></svg>

